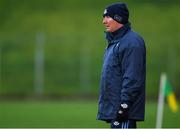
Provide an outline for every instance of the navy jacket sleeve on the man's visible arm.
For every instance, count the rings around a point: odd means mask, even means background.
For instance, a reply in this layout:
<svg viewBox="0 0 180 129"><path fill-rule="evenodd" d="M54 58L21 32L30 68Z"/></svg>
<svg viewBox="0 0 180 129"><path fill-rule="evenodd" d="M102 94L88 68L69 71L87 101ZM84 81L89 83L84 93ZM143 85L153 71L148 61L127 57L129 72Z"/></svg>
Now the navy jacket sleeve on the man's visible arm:
<svg viewBox="0 0 180 129"><path fill-rule="evenodd" d="M122 57L123 82L121 90L121 103L131 105L136 99L144 81L145 48L130 46L124 50Z"/></svg>

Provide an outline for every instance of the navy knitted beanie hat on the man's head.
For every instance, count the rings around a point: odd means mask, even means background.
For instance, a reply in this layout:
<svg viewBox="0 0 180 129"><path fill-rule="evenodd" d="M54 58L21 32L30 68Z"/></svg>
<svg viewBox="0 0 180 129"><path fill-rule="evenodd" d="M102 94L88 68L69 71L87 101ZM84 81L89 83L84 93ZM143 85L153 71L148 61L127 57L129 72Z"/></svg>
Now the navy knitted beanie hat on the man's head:
<svg viewBox="0 0 180 129"><path fill-rule="evenodd" d="M103 17L110 16L112 19L121 24L128 23L129 11L125 3L114 3L106 7Z"/></svg>

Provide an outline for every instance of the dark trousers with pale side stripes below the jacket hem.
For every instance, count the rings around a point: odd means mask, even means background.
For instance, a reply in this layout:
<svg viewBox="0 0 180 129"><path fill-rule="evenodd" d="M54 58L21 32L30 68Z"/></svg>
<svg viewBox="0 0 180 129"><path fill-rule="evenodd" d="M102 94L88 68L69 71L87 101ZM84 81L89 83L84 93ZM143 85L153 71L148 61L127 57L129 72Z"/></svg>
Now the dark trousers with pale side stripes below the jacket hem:
<svg viewBox="0 0 180 129"><path fill-rule="evenodd" d="M126 120L126 121L113 120L111 122L111 128L136 129L136 121L135 120Z"/></svg>

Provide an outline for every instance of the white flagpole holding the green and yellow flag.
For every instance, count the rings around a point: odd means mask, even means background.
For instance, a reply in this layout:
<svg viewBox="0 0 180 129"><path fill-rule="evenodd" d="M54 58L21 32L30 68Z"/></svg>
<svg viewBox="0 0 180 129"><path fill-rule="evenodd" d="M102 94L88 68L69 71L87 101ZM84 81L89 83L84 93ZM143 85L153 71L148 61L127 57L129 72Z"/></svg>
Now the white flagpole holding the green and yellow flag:
<svg viewBox="0 0 180 129"><path fill-rule="evenodd" d="M163 121L163 107L164 107L164 88L166 83L166 74L162 73L160 78L159 98L158 98L158 109L156 116L156 128L162 128Z"/></svg>

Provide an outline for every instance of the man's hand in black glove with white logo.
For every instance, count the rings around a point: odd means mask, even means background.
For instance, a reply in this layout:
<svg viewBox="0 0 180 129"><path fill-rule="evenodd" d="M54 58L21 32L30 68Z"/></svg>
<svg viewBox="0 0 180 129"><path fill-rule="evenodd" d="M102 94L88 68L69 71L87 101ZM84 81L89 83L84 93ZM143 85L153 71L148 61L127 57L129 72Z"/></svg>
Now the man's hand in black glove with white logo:
<svg viewBox="0 0 180 129"><path fill-rule="evenodd" d="M128 119L128 111L129 111L129 105L127 103L122 103L117 112L117 119L120 121L127 120Z"/></svg>

